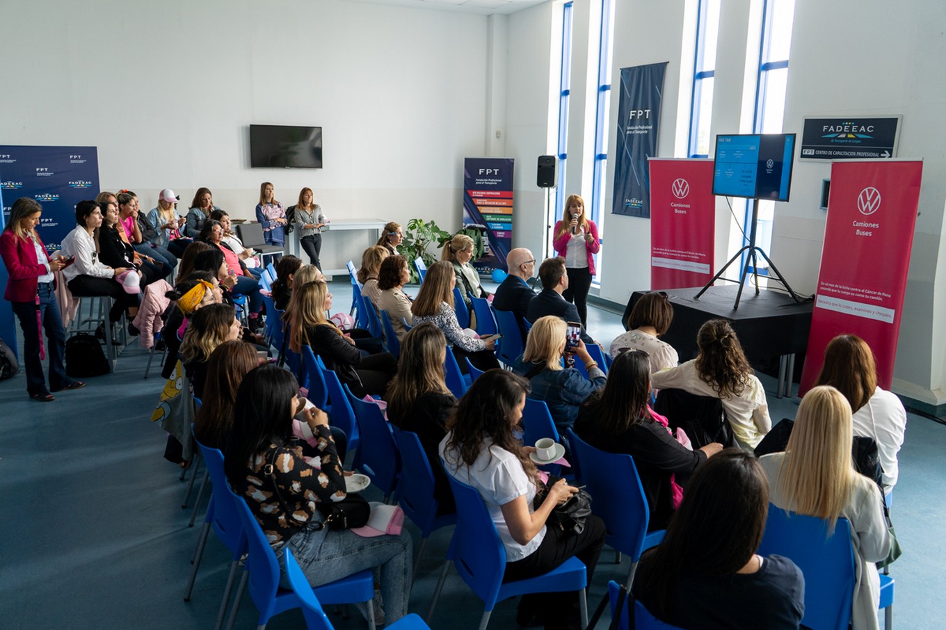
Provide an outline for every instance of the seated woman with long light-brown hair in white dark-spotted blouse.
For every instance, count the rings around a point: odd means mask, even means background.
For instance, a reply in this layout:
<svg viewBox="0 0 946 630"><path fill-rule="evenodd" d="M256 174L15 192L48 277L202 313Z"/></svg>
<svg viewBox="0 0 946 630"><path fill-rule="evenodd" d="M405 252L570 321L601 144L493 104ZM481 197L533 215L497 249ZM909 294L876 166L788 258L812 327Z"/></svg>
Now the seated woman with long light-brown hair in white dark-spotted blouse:
<svg viewBox="0 0 946 630"><path fill-rule="evenodd" d="M424 284L420 286L420 292L411 307L412 325L424 322L437 324L447 336L447 343L453 347L453 354L461 370L466 367L464 358L470 359L470 363L478 370L498 368L499 361L493 352L496 341L483 341L477 338L473 331L461 328L457 322L457 314L453 310L455 283L456 276L452 264L441 260L430 265Z"/></svg>

